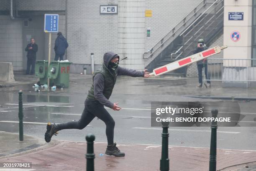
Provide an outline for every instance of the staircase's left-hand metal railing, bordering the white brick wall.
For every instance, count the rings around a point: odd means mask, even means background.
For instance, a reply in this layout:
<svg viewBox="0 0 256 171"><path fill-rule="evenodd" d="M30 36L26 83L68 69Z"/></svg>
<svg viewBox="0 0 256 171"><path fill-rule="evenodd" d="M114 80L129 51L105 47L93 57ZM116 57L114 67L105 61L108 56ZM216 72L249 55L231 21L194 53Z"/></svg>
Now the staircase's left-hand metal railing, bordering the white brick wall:
<svg viewBox="0 0 256 171"><path fill-rule="evenodd" d="M164 50L164 48L166 48L171 42L170 38L174 37L175 34L182 33L182 31L195 20L197 13L200 13L206 5L206 0L202 0L189 14L187 14L176 26L174 26L174 28L166 33L166 35L164 35L152 48L144 53L143 58L148 59L152 57L153 54L155 54L156 56L160 54L161 51ZM149 52L150 54L148 54Z"/></svg>

